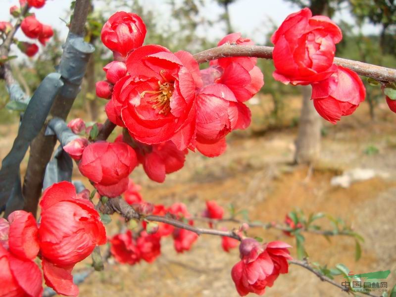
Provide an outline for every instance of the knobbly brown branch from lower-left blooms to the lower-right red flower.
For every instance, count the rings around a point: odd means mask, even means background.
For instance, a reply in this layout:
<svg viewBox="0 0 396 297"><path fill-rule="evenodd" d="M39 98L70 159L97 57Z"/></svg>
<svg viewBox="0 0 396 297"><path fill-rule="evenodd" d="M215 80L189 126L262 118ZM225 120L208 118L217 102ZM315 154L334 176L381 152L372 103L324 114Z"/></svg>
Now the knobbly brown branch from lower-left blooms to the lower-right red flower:
<svg viewBox="0 0 396 297"><path fill-rule="evenodd" d="M239 241L242 240L241 237L234 231L222 231L215 229L198 228L166 216L158 216L158 215L143 216L137 213L135 209L122 198L110 198L104 205L99 203L98 208L99 211L106 214L113 214L114 212L117 212L127 220L137 219L137 220L147 220L152 222L160 222L175 226L177 228L192 231L194 233L197 233L198 235L209 234L209 235L230 237Z"/></svg>

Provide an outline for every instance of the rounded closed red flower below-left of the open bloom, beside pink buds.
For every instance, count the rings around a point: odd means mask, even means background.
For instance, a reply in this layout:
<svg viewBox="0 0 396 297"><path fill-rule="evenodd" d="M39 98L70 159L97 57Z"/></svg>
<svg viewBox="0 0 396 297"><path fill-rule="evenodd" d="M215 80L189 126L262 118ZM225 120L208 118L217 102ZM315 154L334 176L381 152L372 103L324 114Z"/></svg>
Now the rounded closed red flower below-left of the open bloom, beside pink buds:
<svg viewBox="0 0 396 297"><path fill-rule="evenodd" d="M96 142L84 149L78 168L100 195L111 198L127 190L128 175L137 164L136 153L127 144Z"/></svg>

